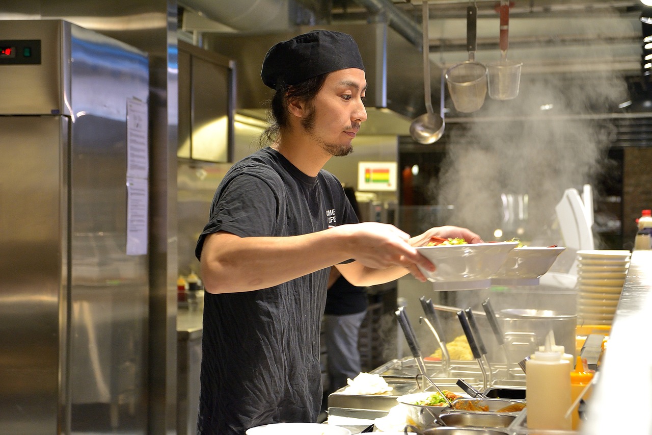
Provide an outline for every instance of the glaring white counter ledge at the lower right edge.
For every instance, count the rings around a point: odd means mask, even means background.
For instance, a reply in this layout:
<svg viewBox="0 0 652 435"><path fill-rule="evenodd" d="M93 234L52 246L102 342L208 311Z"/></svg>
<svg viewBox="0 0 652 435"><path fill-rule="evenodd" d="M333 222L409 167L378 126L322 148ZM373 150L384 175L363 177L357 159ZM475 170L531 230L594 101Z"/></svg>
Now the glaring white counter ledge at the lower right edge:
<svg viewBox="0 0 652 435"><path fill-rule="evenodd" d="M634 251L583 435L652 433L652 251Z"/></svg>

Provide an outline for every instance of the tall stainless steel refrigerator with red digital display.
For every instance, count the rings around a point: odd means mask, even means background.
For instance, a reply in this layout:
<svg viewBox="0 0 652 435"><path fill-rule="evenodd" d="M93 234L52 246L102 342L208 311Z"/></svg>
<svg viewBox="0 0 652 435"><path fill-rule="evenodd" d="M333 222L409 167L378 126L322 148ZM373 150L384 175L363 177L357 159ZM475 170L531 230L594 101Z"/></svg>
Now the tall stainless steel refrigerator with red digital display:
<svg viewBox="0 0 652 435"><path fill-rule="evenodd" d="M0 49L0 434L145 433L147 54L63 20Z"/></svg>

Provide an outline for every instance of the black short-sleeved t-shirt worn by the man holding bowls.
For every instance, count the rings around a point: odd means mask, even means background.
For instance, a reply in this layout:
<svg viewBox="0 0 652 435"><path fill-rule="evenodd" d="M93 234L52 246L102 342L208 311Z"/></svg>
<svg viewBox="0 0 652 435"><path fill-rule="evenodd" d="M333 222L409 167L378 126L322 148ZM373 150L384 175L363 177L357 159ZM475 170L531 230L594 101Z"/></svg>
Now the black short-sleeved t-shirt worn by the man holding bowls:
<svg viewBox="0 0 652 435"><path fill-rule="evenodd" d="M264 148L233 165L218 186L196 255L216 231L293 236L355 222L332 174L307 176ZM269 289L206 293L198 433L241 435L269 423L316 421L328 275L325 268Z"/></svg>

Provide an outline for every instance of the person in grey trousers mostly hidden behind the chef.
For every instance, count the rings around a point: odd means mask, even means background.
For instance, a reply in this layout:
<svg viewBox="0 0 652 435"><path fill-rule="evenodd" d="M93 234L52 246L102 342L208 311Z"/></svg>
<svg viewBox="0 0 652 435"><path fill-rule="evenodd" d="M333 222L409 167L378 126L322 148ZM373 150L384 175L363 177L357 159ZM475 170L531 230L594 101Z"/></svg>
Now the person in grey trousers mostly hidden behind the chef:
<svg viewBox="0 0 652 435"><path fill-rule="evenodd" d="M353 187L344 187L355 216L360 219L360 208ZM366 287L353 285L336 267L331 267L323 334L327 352L329 393L347 385L346 379L355 378L361 371L358 338L368 306Z"/></svg>

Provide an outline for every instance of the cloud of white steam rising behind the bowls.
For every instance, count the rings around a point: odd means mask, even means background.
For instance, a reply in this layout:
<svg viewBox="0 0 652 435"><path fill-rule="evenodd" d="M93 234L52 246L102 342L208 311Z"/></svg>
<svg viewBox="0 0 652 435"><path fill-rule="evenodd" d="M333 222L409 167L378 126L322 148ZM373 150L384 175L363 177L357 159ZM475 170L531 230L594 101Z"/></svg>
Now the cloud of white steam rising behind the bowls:
<svg viewBox="0 0 652 435"><path fill-rule="evenodd" d="M599 34L586 25L578 33ZM623 20L626 31L632 28ZM593 52L589 59L609 63L596 42L583 50ZM505 225L501 194L527 194L527 220L520 222L524 234L503 228L503 238L533 240L553 221L565 189L581 192L582 185L594 185L614 127L591 114L613 112L625 99L627 84L619 71L524 73L516 99L487 97L482 109L471 114L476 121L451 129L445 169L430 193L436 203L454 205L452 222L470 227L485 240L493 240L494 229ZM542 110L544 105L552 109Z"/></svg>

